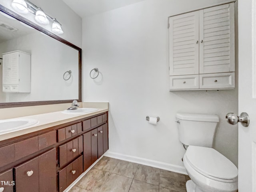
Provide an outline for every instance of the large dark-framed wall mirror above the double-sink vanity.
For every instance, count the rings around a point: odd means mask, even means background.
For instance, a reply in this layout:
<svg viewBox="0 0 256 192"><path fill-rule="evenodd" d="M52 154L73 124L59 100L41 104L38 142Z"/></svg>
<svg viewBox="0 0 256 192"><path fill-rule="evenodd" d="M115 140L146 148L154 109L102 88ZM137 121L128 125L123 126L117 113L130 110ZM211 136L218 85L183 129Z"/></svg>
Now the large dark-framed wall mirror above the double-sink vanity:
<svg viewBox="0 0 256 192"><path fill-rule="evenodd" d="M3 69L3 63L8 60L4 59L9 58L4 55L15 51L30 55L31 67L22 68L27 77L31 71L30 91L13 91L16 85L6 85L6 77L12 79L13 76L8 76L12 67ZM82 100L82 49L1 5L0 63L0 108ZM20 85L18 87L21 90Z"/></svg>

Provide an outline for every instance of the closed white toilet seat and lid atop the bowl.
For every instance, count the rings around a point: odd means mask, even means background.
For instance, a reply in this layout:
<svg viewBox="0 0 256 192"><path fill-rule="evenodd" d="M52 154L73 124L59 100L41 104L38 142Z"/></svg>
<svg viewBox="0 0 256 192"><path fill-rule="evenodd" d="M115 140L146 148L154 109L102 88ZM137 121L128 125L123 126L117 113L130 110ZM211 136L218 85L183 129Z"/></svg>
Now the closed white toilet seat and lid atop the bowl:
<svg viewBox="0 0 256 192"><path fill-rule="evenodd" d="M192 168L208 178L222 182L237 180L236 166L213 148L188 146L185 156Z"/></svg>

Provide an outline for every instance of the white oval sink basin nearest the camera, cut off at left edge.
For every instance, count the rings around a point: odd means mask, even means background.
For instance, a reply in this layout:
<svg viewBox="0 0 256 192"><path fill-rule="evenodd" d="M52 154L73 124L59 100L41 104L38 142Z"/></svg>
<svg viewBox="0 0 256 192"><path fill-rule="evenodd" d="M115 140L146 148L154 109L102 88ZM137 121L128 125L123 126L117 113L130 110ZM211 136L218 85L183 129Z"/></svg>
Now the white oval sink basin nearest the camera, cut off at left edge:
<svg viewBox="0 0 256 192"><path fill-rule="evenodd" d="M5 119L0 120L0 135L5 133L11 133L22 129L27 129L33 125L36 125L38 121L36 119Z"/></svg>

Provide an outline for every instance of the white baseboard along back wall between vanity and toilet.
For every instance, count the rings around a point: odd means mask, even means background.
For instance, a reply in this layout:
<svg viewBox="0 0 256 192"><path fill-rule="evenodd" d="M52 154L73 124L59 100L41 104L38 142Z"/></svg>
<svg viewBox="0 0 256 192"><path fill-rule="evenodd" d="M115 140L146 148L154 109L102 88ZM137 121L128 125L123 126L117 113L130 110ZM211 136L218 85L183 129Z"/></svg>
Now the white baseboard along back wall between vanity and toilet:
<svg viewBox="0 0 256 192"><path fill-rule="evenodd" d="M160 161L155 161L155 160L150 160L150 159L146 159L146 158L130 156L130 155L121 154L121 153L117 153L117 152L111 152L109 150L106 151L104 156L188 175L184 166L178 166L178 165L169 164L169 163L160 162Z"/></svg>

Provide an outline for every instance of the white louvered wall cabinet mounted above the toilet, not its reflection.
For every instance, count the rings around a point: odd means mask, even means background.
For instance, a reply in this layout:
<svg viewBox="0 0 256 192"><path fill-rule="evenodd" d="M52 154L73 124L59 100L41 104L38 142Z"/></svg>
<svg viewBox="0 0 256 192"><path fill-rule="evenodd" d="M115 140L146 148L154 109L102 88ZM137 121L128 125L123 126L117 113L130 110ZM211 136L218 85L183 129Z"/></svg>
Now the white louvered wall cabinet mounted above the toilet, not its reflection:
<svg viewBox="0 0 256 192"><path fill-rule="evenodd" d="M234 3L170 17L170 91L234 89L234 42Z"/></svg>

